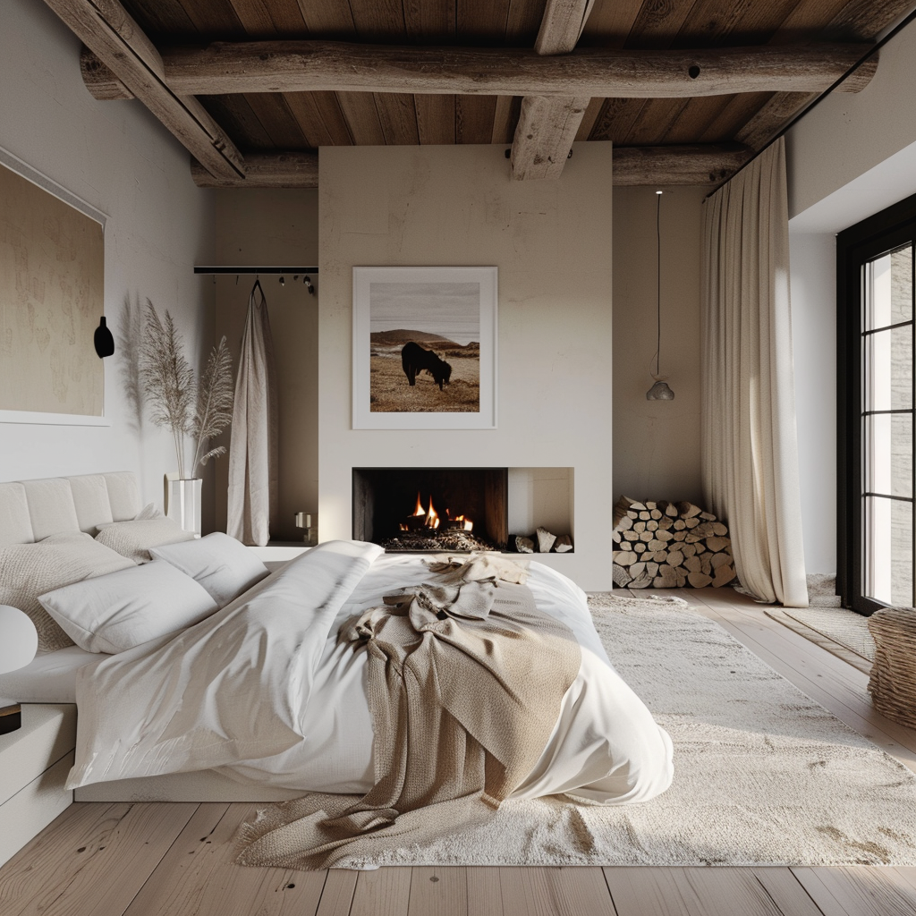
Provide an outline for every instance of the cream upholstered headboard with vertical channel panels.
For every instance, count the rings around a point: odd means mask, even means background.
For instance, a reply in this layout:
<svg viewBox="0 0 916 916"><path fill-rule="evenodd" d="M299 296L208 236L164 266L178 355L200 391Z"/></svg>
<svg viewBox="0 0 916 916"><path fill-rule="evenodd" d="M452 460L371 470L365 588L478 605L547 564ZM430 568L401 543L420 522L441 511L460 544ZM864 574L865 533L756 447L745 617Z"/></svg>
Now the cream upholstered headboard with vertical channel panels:
<svg viewBox="0 0 916 916"><path fill-rule="evenodd" d="M134 518L142 508L129 471L0 484L0 547Z"/></svg>

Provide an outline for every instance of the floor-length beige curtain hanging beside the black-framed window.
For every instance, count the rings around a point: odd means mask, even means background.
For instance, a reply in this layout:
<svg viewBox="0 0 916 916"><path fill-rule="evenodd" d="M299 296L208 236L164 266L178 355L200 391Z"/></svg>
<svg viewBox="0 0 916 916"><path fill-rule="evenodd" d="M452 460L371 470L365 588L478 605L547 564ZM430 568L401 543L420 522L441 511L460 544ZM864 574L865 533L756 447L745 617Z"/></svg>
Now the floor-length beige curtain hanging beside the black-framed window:
<svg viewBox="0 0 916 916"><path fill-rule="evenodd" d="M747 590L807 607L781 138L703 205L703 490Z"/></svg>

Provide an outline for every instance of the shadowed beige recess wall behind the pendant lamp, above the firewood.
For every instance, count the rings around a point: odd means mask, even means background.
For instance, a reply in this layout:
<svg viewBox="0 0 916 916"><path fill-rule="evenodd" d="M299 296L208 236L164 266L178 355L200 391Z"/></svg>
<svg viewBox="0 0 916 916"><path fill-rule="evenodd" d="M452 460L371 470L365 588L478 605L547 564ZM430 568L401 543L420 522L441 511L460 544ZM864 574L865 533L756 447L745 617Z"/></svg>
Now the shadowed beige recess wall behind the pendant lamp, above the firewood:
<svg viewBox="0 0 916 916"><path fill-rule="evenodd" d="M656 191L661 198L661 374L672 401L646 400L656 349ZM700 264L705 188L614 193L616 496L702 503Z"/></svg>

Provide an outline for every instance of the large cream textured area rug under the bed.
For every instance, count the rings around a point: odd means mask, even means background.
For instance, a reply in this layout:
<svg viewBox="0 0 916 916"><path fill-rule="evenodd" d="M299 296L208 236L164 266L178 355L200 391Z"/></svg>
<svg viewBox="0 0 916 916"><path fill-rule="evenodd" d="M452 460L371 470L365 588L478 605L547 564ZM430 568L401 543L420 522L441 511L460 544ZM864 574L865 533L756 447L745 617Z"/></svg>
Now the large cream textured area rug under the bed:
<svg viewBox="0 0 916 916"><path fill-rule="evenodd" d="M910 770L681 599L589 603L671 734L671 789L621 807L509 801L480 826L338 867L916 865Z"/></svg>

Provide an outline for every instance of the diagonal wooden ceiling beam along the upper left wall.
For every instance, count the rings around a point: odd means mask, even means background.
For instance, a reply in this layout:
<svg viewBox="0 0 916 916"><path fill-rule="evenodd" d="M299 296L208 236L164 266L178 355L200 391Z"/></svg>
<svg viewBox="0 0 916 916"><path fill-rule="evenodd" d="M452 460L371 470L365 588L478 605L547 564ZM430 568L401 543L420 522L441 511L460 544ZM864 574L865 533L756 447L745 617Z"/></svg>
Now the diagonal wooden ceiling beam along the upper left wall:
<svg viewBox="0 0 916 916"><path fill-rule="evenodd" d="M197 99L169 88L158 50L117 0L45 3L104 65L97 71L123 84L126 92L145 104L205 169L223 178L245 175L245 160L232 140ZM81 67L83 79L91 79L92 68L87 71L85 60Z"/></svg>

